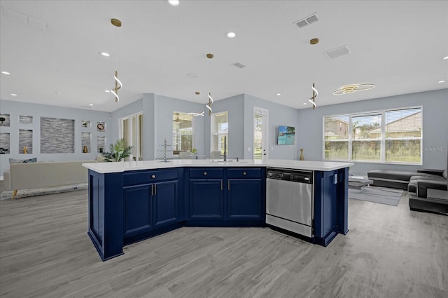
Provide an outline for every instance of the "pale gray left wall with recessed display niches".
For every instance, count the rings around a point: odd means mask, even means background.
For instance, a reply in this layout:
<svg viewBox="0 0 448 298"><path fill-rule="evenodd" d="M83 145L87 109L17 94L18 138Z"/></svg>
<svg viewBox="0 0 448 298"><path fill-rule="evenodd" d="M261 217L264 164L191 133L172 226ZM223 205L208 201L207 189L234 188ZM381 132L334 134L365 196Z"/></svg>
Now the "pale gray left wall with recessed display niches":
<svg viewBox="0 0 448 298"><path fill-rule="evenodd" d="M104 111L92 111L89 109L71 109L66 107L57 107L45 104L30 104L27 102L14 102L11 100L0 100L0 113L10 115L10 126L0 127L1 133L10 134L9 154L0 154L0 176L9 169L9 158L27 159L37 158L37 161L94 161L97 157L97 121L106 123L105 135L107 140L111 140L115 133L109 129L111 113ZM19 116L32 116L33 123L19 123ZM74 153L55 153L41 154L41 117L45 118L64 118L75 121L75 152ZM83 120L91 122L90 128L83 128ZM19 148L19 130L33 130L32 154L21 154ZM89 153L83 153L82 132L91 133Z"/></svg>

